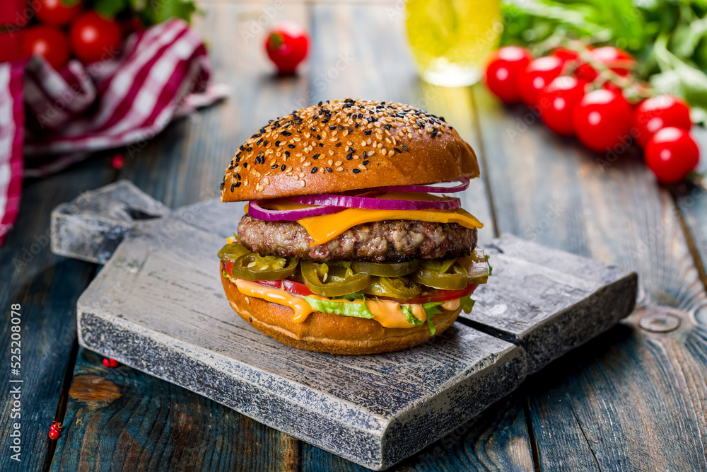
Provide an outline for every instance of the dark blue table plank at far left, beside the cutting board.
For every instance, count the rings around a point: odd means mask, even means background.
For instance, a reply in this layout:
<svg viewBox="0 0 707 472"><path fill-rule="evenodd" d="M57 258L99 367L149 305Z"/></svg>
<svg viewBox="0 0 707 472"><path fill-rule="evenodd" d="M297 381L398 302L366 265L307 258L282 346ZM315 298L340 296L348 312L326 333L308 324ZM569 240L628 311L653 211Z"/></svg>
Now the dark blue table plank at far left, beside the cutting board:
<svg viewBox="0 0 707 472"><path fill-rule="evenodd" d="M9 318L12 304L21 305L21 375L1 369L6 401L0 405L0 448L5 470L38 470L47 462L47 438L64 375L70 369L76 345L76 299L93 278L95 266L53 255L49 250L49 212L93 185L105 185L113 178L105 159L94 159L44 180L35 180L23 189L20 213L4 246L0 248L0 300ZM0 349L10 362L11 325L0 328ZM13 346L15 347L15 346ZM8 383L21 379L20 384ZM9 391L21 386L20 418L11 418ZM21 424L21 462L10 459L14 422Z"/></svg>

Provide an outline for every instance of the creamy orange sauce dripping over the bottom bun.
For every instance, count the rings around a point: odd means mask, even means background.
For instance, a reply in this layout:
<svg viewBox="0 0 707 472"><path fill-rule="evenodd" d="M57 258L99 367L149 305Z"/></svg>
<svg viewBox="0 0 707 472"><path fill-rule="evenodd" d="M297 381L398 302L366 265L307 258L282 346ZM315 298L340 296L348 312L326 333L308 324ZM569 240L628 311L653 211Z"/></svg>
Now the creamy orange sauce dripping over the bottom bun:
<svg viewBox="0 0 707 472"><path fill-rule="evenodd" d="M231 282L233 282L233 280L231 280ZM244 294L246 297L259 298L279 305L289 306L295 312L292 317L292 321L295 323L302 323L307 319L310 313L314 311L305 299L293 295L286 290L264 287L261 284L241 279L236 279L234 283L238 288L238 292ZM312 297L327 300L324 297ZM341 299L337 300L337 302L366 303L366 307L368 307L370 312L373 313L373 319L378 321L378 323L380 323L380 325L384 328L412 328L414 326L408 323L402 309L400 308L400 304L395 301L366 300L364 302L363 300L349 301L346 299ZM427 320L427 313L422 305L406 304L405 306L409 306L412 309L412 314L420 321Z"/></svg>

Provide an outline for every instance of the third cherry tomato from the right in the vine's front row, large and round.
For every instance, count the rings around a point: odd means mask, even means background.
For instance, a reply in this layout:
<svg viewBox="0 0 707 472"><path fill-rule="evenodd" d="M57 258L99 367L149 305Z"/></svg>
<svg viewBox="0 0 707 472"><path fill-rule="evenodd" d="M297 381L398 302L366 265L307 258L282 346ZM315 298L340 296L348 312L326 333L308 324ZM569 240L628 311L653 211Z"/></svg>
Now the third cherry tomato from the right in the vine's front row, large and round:
<svg viewBox="0 0 707 472"><path fill-rule="evenodd" d="M629 140L631 105L605 88L591 91L575 106L572 125L582 144L592 151L607 151Z"/></svg>

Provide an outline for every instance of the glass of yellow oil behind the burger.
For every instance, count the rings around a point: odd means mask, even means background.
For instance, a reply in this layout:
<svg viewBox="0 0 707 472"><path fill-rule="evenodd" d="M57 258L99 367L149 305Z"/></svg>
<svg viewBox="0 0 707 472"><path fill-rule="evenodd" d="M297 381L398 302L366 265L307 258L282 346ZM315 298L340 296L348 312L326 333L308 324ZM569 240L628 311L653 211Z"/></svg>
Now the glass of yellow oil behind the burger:
<svg viewBox="0 0 707 472"><path fill-rule="evenodd" d="M462 87L481 79L503 30L500 0L407 0L407 38L422 79Z"/></svg>

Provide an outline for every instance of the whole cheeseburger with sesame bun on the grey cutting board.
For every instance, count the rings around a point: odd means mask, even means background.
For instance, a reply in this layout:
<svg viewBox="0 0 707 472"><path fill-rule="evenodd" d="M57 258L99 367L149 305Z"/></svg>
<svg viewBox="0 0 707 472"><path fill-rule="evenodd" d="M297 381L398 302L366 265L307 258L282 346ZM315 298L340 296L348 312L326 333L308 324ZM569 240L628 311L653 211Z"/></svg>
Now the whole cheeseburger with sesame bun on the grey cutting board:
<svg viewBox="0 0 707 472"><path fill-rule="evenodd" d="M218 253L230 306L298 349L342 355L424 343L469 312L489 265L455 193L477 157L443 117L327 100L238 148L221 201L247 202Z"/></svg>

